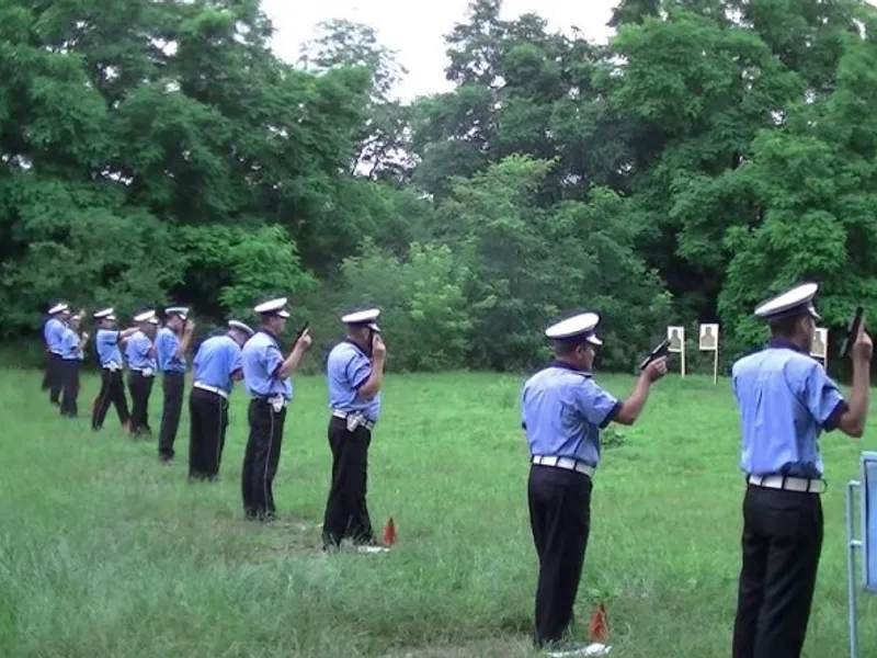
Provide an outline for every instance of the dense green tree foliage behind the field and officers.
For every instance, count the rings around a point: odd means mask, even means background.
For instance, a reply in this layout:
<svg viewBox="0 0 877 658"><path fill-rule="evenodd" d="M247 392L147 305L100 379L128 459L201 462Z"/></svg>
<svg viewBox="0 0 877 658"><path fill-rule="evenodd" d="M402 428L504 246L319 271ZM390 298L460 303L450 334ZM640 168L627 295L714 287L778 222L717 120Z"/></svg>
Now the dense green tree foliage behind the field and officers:
<svg viewBox="0 0 877 658"><path fill-rule="evenodd" d="M361 305L399 368L524 368L603 316L604 367L668 324L877 302L877 15L864 0L620 0L606 45L472 0L453 90L403 103L367 25L278 60L257 0L0 8L0 308L284 294L318 344Z"/></svg>

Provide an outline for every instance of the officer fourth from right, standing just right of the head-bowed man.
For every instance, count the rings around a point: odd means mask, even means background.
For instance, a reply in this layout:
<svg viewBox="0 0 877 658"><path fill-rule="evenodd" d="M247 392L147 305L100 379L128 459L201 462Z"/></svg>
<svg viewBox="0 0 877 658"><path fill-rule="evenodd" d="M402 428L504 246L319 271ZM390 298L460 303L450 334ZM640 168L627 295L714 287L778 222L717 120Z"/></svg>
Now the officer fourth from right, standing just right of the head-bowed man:
<svg viewBox="0 0 877 658"><path fill-rule="evenodd" d="M262 327L241 353L243 381L252 398L247 412L250 435L241 473L243 512L248 519L261 521L272 521L276 514L271 485L281 457L286 407L293 399L289 375L310 348L310 334L305 329L284 359L278 339L289 317L285 307L286 298L281 297L253 309Z"/></svg>

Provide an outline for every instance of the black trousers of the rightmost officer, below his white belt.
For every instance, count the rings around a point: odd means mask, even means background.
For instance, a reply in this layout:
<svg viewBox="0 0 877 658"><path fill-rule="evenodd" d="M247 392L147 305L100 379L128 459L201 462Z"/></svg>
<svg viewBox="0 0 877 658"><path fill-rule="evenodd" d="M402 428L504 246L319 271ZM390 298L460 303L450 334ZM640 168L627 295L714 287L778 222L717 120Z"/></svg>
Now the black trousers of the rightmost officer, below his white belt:
<svg viewBox="0 0 877 658"><path fill-rule="evenodd" d="M750 485L742 547L733 658L798 658L822 552L819 495Z"/></svg>

